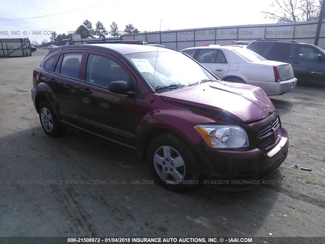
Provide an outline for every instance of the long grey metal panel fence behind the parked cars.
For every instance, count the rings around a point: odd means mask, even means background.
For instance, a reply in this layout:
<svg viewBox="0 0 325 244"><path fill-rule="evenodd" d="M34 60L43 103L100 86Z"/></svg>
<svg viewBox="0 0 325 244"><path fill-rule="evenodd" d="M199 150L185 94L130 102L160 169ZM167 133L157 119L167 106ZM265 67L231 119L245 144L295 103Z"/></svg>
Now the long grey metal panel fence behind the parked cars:
<svg viewBox="0 0 325 244"><path fill-rule="evenodd" d="M325 19L324 19L325 20ZM318 46L325 49L325 21L323 20ZM256 39L295 40L314 44L317 20L279 23L254 24L239 26L222 26L196 29L179 29L164 32L141 32L139 34L122 35L122 40L145 41L149 44L158 43L165 47L182 50L187 47L208 44L230 45L233 41L253 41Z"/></svg>

